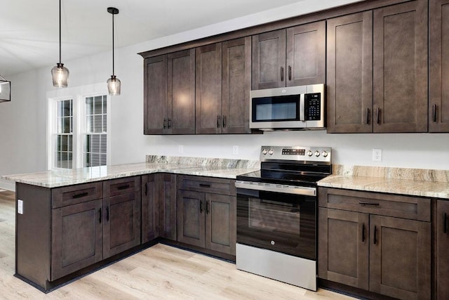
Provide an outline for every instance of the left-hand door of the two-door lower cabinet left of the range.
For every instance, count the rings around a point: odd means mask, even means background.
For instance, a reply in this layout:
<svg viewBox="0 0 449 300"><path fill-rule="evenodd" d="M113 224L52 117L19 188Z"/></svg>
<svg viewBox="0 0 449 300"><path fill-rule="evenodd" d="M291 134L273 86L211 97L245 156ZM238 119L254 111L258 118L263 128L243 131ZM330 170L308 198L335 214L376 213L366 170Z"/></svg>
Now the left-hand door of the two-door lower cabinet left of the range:
<svg viewBox="0 0 449 300"><path fill-rule="evenodd" d="M177 241L204 247L204 193L191 190L177 192Z"/></svg>

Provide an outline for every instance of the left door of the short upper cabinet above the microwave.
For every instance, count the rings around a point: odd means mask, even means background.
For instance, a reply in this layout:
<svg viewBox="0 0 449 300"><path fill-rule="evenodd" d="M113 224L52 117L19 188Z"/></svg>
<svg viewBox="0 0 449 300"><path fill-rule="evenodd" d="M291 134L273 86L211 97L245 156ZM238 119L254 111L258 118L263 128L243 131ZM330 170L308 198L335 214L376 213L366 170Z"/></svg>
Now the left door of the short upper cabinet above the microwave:
<svg viewBox="0 0 449 300"><path fill-rule="evenodd" d="M286 86L286 30L253 36L253 89Z"/></svg>

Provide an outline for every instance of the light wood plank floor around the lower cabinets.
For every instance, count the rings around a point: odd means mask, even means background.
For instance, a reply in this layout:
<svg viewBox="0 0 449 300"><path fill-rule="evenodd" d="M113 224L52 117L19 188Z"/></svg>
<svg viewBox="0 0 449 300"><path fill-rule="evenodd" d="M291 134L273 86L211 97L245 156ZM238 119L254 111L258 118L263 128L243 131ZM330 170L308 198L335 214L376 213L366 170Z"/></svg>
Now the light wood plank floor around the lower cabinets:
<svg viewBox="0 0 449 300"><path fill-rule="evenodd" d="M351 299L262 278L163 244L43 294L13 277L14 226L15 194L0 192L0 299Z"/></svg>

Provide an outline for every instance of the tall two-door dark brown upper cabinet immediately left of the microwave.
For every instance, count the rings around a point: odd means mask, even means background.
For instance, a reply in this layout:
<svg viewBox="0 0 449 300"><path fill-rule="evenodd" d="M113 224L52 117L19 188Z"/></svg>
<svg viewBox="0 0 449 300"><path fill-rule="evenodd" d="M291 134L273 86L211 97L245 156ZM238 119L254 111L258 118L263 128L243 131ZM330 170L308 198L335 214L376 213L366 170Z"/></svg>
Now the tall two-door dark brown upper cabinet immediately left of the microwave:
<svg viewBox="0 0 449 300"><path fill-rule="evenodd" d="M250 133L250 37L196 48L196 133Z"/></svg>

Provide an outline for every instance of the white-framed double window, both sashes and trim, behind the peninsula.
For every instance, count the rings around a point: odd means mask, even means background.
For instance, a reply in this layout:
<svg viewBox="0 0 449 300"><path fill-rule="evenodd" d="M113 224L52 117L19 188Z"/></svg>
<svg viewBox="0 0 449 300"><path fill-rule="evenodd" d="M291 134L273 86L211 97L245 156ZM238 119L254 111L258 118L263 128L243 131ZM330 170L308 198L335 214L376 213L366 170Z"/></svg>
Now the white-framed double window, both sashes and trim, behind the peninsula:
<svg viewBox="0 0 449 300"><path fill-rule="evenodd" d="M109 96L105 84L49 91L47 98L48 169L107 165Z"/></svg>

